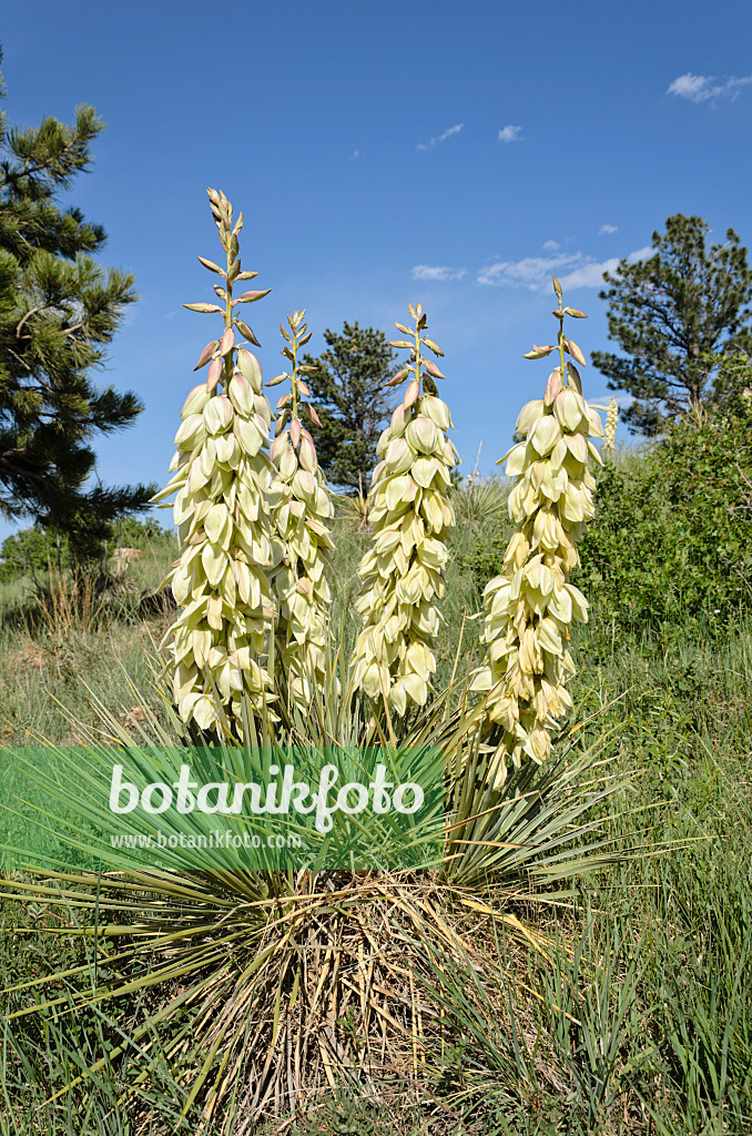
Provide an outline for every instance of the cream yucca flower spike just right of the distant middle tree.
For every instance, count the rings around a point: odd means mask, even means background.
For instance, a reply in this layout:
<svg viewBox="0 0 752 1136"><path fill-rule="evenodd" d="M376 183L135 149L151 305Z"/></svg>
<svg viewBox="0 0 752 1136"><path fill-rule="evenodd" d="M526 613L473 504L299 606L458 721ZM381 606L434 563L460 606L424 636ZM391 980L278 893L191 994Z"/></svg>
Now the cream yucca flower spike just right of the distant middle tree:
<svg viewBox="0 0 752 1136"><path fill-rule="evenodd" d="M423 346L436 356L443 351L423 334L427 320L420 304L410 304L410 315L415 331L395 327L412 342L390 343L410 350L409 367L390 385L410 381L377 446L382 460L370 490L374 544L358 567L364 624L352 659L353 685L371 699L383 696L399 715L425 704L436 670L436 601L444 594L446 533L454 524L450 471L458 460L446 436L449 407L434 383L444 376L420 353Z"/></svg>

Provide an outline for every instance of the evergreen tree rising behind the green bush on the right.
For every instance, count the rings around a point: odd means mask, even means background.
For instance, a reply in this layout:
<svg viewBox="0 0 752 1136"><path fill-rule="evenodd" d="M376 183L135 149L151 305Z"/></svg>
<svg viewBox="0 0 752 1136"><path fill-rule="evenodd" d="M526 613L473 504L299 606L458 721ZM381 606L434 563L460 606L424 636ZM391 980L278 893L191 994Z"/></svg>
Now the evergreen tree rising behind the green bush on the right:
<svg viewBox="0 0 752 1136"><path fill-rule="evenodd" d="M732 228L724 244L708 247L708 234L701 217L676 214L653 233L651 257L604 274L609 337L628 358L592 358L612 391L633 395L623 418L643 434L722 394L719 353L752 351L746 249Z"/></svg>

